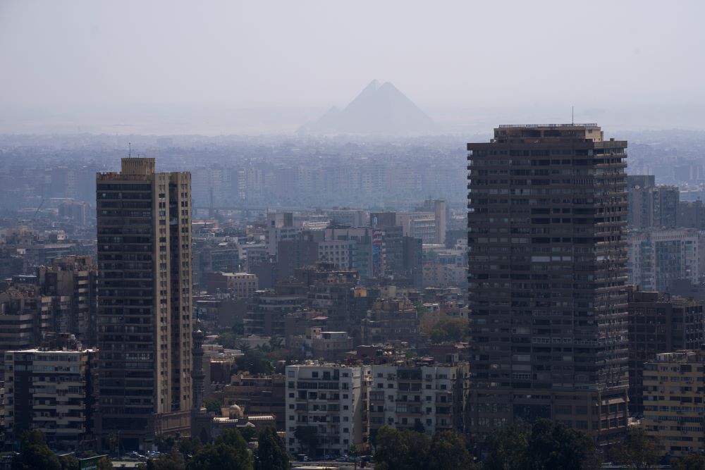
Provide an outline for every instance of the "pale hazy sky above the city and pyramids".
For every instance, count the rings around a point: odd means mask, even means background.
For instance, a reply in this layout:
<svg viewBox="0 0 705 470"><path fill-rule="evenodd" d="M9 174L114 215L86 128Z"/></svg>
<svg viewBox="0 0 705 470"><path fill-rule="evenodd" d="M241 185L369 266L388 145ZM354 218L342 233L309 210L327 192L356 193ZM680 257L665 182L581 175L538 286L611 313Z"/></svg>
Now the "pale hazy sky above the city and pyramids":
<svg viewBox="0 0 705 470"><path fill-rule="evenodd" d="M0 0L0 132L61 116L322 109L373 78L432 117L571 104L702 116L703 18L701 0Z"/></svg>

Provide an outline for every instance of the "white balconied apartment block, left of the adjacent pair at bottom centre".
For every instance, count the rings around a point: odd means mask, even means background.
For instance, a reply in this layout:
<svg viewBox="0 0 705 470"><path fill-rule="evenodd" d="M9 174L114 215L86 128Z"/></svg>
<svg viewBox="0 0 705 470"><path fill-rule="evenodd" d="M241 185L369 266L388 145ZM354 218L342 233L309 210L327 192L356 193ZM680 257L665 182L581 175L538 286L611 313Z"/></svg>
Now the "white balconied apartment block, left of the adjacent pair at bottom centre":
<svg viewBox="0 0 705 470"><path fill-rule="evenodd" d="M369 366L299 364L286 367L286 449L311 457L344 454L367 435ZM300 428L300 433L297 433ZM314 448L297 435L315 435Z"/></svg>

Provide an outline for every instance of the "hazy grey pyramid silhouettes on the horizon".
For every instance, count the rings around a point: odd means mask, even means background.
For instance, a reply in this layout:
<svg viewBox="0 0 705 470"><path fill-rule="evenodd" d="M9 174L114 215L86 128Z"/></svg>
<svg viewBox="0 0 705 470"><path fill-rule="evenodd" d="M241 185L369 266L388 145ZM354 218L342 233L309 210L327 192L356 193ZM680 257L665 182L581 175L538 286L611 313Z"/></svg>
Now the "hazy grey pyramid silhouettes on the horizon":
<svg viewBox="0 0 705 470"><path fill-rule="evenodd" d="M314 123L307 134L420 135L433 132L434 121L390 82L369 82L344 109L335 106Z"/></svg>

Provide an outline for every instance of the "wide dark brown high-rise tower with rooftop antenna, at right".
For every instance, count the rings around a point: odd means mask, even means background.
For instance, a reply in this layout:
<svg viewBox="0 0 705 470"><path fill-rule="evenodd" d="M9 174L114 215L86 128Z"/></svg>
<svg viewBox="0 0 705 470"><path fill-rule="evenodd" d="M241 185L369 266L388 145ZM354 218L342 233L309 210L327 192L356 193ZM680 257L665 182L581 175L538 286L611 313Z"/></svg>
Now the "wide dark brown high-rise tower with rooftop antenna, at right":
<svg viewBox="0 0 705 470"><path fill-rule="evenodd" d="M625 148L594 124L502 125L467 144L471 406L479 440L548 418L627 426Z"/></svg>

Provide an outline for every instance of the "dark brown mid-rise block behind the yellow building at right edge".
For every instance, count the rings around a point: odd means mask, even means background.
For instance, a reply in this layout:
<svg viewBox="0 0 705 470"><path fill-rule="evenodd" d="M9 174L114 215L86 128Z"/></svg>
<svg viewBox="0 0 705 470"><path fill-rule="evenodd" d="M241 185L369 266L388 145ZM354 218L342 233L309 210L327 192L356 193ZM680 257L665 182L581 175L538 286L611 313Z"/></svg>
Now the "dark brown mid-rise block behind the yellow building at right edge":
<svg viewBox="0 0 705 470"><path fill-rule="evenodd" d="M703 302L662 292L629 292L629 409L644 412L644 362L660 352L699 350Z"/></svg>

